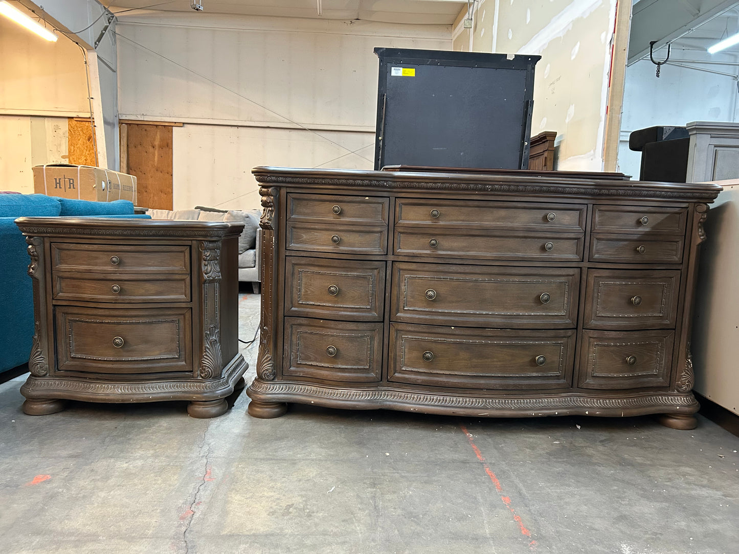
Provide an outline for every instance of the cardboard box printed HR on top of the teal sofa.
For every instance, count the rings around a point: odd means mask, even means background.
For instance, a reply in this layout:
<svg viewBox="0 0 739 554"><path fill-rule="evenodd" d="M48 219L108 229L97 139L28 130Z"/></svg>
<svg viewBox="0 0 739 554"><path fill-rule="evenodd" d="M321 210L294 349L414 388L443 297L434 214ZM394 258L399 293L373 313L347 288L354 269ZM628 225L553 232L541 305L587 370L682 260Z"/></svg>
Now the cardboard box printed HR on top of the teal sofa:
<svg viewBox="0 0 739 554"><path fill-rule="evenodd" d="M33 191L47 196L98 202L131 200L136 204L136 177L89 165L35 165Z"/></svg>

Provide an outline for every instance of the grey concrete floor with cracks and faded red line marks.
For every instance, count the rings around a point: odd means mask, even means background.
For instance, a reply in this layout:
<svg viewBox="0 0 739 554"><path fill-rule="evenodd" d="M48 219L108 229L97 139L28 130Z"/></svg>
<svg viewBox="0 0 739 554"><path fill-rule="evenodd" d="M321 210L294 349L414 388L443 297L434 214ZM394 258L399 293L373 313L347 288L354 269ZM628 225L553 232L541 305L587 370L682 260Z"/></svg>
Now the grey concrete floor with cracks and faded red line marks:
<svg viewBox="0 0 739 554"><path fill-rule="evenodd" d="M259 297L239 305L249 340ZM704 418L256 420L246 395L212 420L185 403L31 417L24 378L0 385L2 553L739 552L739 438Z"/></svg>

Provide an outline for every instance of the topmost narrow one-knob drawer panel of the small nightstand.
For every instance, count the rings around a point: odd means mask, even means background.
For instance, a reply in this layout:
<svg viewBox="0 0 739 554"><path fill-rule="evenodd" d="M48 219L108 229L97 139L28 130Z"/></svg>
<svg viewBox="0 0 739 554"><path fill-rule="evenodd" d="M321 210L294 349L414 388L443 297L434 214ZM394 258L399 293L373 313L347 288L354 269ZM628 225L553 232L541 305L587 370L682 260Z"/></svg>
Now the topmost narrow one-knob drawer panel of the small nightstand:
<svg viewBox="0 0 739 554"><path fill-rule="evenodd" d="M51 259L52 271L188 273L190 247L56 242Z"/></svg>

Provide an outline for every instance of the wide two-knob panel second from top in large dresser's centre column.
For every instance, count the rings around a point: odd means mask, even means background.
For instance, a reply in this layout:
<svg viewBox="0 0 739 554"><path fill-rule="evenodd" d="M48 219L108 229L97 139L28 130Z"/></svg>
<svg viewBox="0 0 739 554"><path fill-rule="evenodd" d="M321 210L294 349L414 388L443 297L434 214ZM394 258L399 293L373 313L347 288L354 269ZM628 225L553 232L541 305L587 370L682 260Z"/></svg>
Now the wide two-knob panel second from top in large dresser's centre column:
<svg viewBox="0 0 739 554"><path fill-rule="evenodd" d="M395 253L452 258L582 261L582 235L473 235L398 230Z"/></svg>

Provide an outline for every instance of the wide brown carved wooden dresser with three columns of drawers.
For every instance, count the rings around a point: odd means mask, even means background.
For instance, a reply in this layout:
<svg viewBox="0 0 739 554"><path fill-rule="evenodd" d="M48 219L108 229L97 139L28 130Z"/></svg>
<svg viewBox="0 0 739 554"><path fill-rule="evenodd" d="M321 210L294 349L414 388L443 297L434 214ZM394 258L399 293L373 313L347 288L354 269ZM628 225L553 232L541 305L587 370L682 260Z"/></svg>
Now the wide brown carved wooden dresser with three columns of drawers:
<svg viewBox="0 0 739 554"><path fill-rule="evenodd" d="M695 425L696 254L718 186L253 173L265 213L251 415L297 402Z"/></svg>

